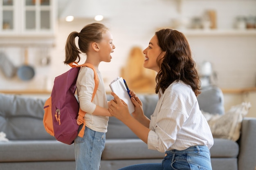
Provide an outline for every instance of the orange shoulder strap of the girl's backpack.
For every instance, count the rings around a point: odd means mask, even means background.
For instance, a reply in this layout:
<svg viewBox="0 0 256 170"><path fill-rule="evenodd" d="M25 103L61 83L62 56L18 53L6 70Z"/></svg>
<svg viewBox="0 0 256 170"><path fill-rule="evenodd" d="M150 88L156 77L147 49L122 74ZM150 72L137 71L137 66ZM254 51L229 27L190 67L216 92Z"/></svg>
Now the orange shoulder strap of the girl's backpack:
<svg viewBox="0 0 256 170"><path fill-rule="evenodd" d="M75 63L75 64L77 64L77 63ZM94 83L95 83L94 90L93 90L93 93L92 93L92 100L93 100L94 96L95 96L95 94L97 92L98 86L99 86L99 77L98 77L97 71L95 70L94 66L92 64L90 64L90 63L85 63L85 64L81 64L81 65L76 65L76 66L74 64L72 64L71 66L72 67L83 67L83 66L86 66L86 67L92 68L92 70L94 72ZM79 137L83 137L84 131L85 131L85 119L84 119L84 116L85 116L85 112L81 108L79 108L79 113L78 113L77 121L78 121L79 125L83 124L83 127L82 127L82 129L80 130L80 132L78 134Z"/></svg>

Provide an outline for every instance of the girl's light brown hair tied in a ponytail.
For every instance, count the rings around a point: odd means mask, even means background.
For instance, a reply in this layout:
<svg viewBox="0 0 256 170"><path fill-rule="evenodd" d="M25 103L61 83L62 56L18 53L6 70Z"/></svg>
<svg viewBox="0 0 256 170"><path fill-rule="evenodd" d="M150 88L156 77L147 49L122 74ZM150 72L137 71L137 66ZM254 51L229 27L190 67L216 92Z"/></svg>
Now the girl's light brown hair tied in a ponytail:
<svg viewBox="0 0 256 170"><path fill-rule="evenodd" d="M91 42L100 42L103 38L103 33L105 33L108 28L101 24L101 23L92 23L88 24L80 31L80 33L74 31L70 33L67 37L67 42L65 46L65 64L69 64L71 62L75 62L77 59L80 61L79 54L87 53L89 49L89 45ZM78 39L78 46L77 48L75 43L75 38L79 37Z"/></svg>

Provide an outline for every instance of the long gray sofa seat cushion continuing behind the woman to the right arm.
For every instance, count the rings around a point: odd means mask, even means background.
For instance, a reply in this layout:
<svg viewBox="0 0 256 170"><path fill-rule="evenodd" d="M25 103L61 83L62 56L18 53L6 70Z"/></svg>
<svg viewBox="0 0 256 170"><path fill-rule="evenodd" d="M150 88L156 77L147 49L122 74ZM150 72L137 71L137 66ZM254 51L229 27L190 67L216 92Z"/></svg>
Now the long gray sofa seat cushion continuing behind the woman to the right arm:
<svg viewBox="0 0 256 170"><path fill-rule="evenodd" d="M214 138L210 152L212 158L237 157L239 146L235 141ZM162 159L163 157L164 153L149 150L140 139L108 139L101 159Z"/></svg>

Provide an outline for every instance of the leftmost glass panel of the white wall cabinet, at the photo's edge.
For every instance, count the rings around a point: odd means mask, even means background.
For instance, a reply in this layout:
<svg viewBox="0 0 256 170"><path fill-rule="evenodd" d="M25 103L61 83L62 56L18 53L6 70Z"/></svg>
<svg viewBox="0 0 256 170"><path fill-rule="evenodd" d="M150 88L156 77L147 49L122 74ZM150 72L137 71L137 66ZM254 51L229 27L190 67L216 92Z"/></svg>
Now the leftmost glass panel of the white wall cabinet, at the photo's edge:
<svg viewBox="0 0 256 170"><path fill-rule="evenodd" d="M2 0L2 30L14 29L13 0Z"/></svg>

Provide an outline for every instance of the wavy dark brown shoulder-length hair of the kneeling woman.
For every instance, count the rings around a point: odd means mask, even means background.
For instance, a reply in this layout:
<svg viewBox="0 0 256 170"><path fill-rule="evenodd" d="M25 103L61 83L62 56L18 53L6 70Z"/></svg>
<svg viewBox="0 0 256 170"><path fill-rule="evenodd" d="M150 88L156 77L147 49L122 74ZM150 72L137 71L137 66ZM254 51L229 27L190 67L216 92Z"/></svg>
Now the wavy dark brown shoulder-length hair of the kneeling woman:
<svg viewBox="0 0 256 170"><path fill-rule="evenodd" d="M155 92L164 91L175 80L182 80L191 86L195 95L200 94L200 79L191 55L189 42L183 33L172 29L155 32L158 45L165 51L165 56L157 59L160 71L156 76Z"/></svg>

